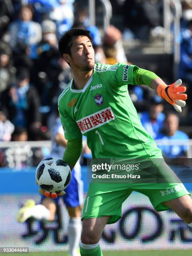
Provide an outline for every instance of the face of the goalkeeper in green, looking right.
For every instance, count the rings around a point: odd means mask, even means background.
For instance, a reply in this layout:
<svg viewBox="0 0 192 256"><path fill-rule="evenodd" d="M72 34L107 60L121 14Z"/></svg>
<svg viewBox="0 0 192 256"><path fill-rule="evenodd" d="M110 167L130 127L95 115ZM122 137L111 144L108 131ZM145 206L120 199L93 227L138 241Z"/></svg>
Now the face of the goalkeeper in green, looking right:
<svg viewBox="0 0 192 256"><path fill-rule="evenodd" d="M71 56L64 54L64 59L70 63L72 70L91 71L95 64L95 52L87 36L77 36L71 46Z"/></svg>

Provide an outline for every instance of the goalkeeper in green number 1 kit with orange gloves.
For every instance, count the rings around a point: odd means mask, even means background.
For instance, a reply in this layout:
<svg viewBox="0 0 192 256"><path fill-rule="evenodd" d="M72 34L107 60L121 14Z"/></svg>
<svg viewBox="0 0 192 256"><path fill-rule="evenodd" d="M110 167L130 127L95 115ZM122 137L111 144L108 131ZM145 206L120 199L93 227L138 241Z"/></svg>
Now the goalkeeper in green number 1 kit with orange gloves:
<svg viewBox="0 0 192 256"><path fill-rule="evenodd" d="M181 80L167 86L153 72L134 65L95 64L92 38L82 29L67 31L59 40L59 52L74 75L58 100L68 140L64 160L70 168L79 159L82 134L95 159L162 159L161 150L141 125L127 84L146 84L181 112L187 99ZM90 183L82 213L82 256L102 256L102 231L121 218L122 203L132 191L147 195L157 211L173 209L192 227L192 200L181 183Z"/></svg>

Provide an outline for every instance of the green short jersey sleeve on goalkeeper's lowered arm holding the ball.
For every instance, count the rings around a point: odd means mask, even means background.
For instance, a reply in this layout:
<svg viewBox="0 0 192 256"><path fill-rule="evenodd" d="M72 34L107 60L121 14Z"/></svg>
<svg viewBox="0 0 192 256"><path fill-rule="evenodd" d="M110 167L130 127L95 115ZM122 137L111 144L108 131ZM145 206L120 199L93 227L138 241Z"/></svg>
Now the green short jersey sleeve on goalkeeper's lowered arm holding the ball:
<svg viewBox="0 0 192 256"><path fill-rule="evenodd" d="M79 131L76 121L67 113L66 110L63 110L60 107L58 109L66 140L70 141L81 138L82 133Z"/></svg>

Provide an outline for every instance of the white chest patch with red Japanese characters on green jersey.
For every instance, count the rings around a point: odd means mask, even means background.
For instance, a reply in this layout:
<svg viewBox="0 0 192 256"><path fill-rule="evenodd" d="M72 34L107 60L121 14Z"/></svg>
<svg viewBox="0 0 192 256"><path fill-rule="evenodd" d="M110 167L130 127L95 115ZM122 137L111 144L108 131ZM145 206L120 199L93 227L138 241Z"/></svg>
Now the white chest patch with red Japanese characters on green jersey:
<svg viewBox="0 0 192 256"><path fill-rule="evenodd" d="M91 131L97 127L100 127L101 125L104 125L105 123L109 123L114 119L115 115L113 114L113 110L111 107L108 107L91 115L87 115L76 122L79 130L82 134L84 134L87 131Z"/></svg>

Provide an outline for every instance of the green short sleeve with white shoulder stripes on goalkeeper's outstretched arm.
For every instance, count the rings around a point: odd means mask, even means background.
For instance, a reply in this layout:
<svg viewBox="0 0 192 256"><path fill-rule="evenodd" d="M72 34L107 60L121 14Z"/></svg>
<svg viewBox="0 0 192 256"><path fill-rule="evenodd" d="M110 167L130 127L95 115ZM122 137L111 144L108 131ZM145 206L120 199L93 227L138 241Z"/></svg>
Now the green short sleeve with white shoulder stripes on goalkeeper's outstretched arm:
<svg viewBox="0 0 192 256"><path fill-rule="evenodd" d="M117 63L115 65L96 64L95 71L111 86L134 84L133 72L139 69L135 65Z"/></svg>

